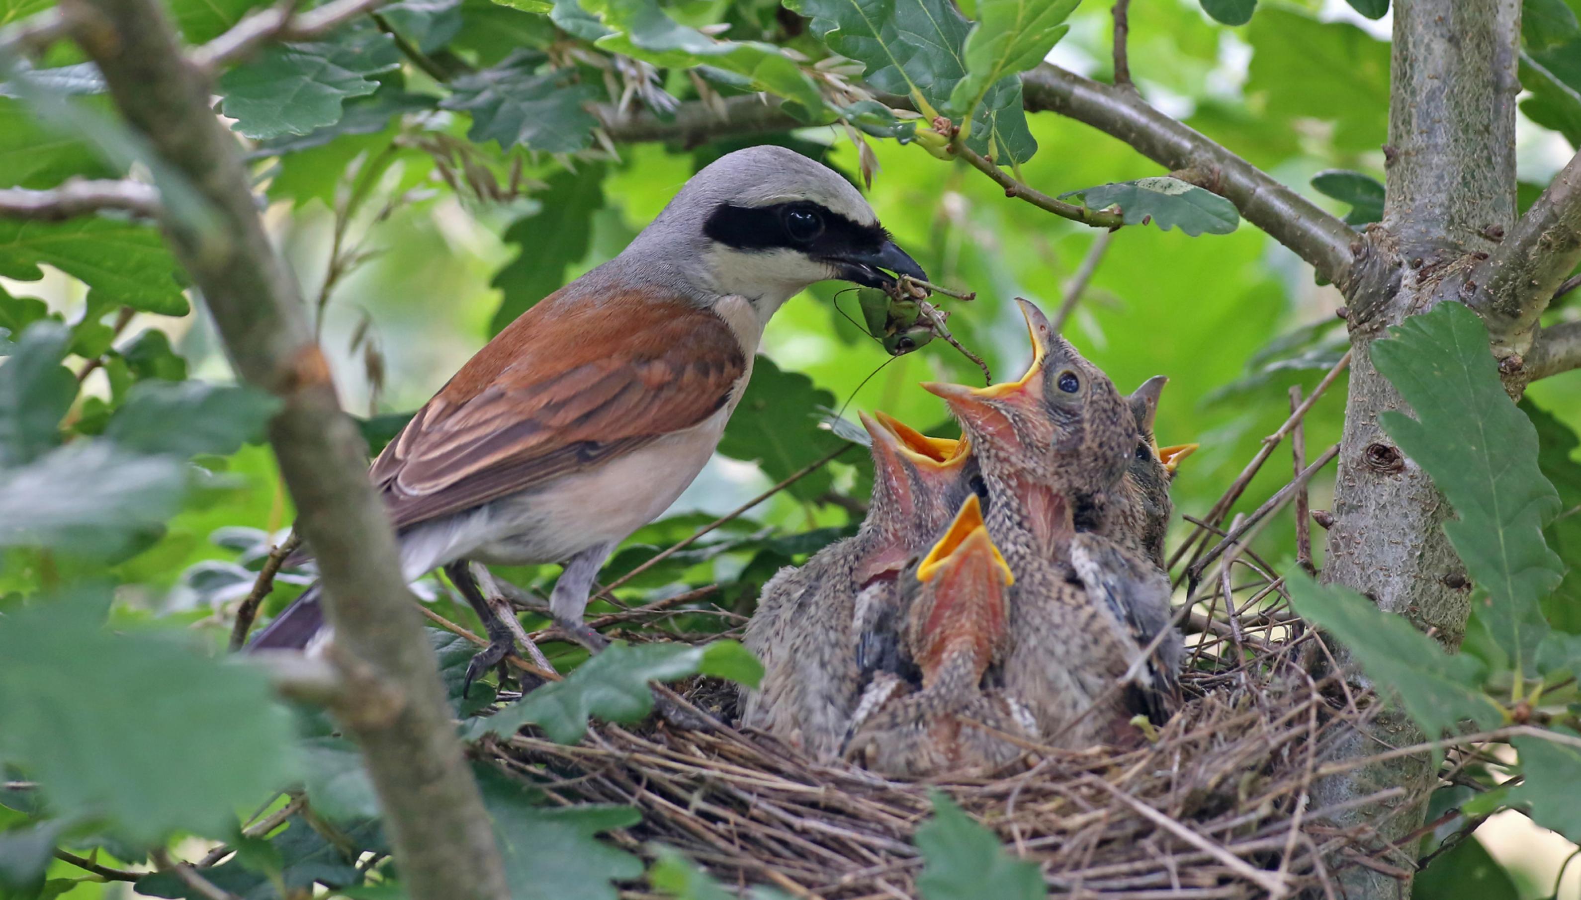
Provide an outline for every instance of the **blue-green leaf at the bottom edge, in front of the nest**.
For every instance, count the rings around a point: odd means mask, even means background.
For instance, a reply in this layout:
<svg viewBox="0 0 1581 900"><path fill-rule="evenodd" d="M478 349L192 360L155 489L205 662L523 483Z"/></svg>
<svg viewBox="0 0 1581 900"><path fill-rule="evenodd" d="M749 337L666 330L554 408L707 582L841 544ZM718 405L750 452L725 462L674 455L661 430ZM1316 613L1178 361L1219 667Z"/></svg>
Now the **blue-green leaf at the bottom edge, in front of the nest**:
<svg viewBox="0 0 1581 900"><path fill-rule="evenodd" d="M931 791L933 818L917 829L923 900L1043 900L1048 887L1036 862L1010 856L999 837L961 811L942 791Z"/></svg>

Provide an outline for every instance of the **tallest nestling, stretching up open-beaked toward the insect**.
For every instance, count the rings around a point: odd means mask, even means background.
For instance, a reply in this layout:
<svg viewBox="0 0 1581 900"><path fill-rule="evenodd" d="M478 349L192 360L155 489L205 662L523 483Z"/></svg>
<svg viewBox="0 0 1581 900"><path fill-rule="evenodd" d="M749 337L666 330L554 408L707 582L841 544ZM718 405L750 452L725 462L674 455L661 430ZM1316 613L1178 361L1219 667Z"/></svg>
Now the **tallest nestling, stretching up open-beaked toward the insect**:
<svg viewBox="0 0 1581 900"><path fill-rule="evenodd" d="M949 402L977 448L993 498L988 533L1015 573L1006 691L1031 709L1045 740L1124 740L1132 715L1167 712L1175 683L1168 660L1143 656L1130 612L1167 609L1168 579L1140 541L1127 549L1104 536L1124 503L1138 424L1113 383L1037 307L1020 304L1034 353L1026 375L925 388Z"/></svg>

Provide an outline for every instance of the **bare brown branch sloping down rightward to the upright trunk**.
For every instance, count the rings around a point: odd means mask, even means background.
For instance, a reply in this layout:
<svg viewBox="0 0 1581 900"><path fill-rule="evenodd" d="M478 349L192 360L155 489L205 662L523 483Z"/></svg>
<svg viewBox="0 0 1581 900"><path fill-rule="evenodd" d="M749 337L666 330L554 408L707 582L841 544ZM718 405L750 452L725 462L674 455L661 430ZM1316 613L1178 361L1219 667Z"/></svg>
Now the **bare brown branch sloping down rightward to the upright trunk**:
<svg viewBox="0 0 1581 900"><path fill-rule="evenodd" d="M1190 169L1241 215L1339 285L1350 285L1358 234L1312 201L1230 150L1151 108L1135 92L1115 89L1043 63L1021 74L1028 112L1059 112L1130 144L1167 169Z"/></svg>

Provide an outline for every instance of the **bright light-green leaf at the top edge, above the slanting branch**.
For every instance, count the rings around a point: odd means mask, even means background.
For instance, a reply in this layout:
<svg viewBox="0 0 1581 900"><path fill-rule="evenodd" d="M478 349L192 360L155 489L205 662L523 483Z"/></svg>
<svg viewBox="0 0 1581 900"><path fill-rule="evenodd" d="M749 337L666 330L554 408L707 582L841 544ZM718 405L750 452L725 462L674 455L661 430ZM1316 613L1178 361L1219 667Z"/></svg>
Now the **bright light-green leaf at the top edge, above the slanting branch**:
<svg viewBox="0 0 1581 900"><path fill-rule="evenodd" d="M1037 66L1066 36L1064 21L1081 0L979 0L977 24L966 36L966 78L950 92L950 106L969 115L988 87Z"/></svg>

